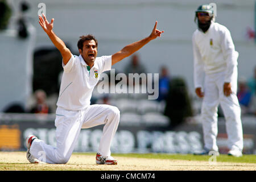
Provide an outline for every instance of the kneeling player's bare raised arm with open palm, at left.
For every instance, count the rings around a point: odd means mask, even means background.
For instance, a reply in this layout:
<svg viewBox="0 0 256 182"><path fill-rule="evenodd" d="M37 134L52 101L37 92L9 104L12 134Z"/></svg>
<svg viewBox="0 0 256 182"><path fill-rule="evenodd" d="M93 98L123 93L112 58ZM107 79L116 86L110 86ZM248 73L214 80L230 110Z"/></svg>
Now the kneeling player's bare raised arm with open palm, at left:
<svg viewBox="0 0 256 182"><path fill-rule="evenodd" d="M44 14L43 18L39 15L39 24L43 28L43 30L46 32L46 34L51 39L54 46L60 51L61 56L63 57L63 63L64 65L68 63L69 59L71 59L72 53L71 51L65 46L65 43L63 40L61 40L52 30L53 28L53 21L52 18L51 23L48 22L46 19L46 16Z"/></svg>

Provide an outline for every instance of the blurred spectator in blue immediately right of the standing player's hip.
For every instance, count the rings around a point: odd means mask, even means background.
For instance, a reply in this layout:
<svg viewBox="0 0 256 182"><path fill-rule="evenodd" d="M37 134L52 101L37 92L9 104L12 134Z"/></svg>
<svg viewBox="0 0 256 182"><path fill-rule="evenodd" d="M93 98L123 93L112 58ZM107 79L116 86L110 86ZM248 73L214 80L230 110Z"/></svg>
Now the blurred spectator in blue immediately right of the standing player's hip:
<svg viewBox="0 0 256 182"><path fill-rule="evenodd" d="M241 112L242 114L248 113L249 104L251 101L251 92L246 84L246 79L244 77L241 77L238 80L238 91L237 91L237 98L239 101L239 104L241 106Z"/></svg>

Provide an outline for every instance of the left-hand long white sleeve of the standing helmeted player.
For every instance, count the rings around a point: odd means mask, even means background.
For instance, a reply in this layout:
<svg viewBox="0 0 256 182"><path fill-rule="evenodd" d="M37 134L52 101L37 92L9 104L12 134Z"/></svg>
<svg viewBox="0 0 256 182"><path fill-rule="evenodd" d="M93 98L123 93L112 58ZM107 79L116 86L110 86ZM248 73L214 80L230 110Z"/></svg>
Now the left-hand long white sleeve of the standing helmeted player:
<svg viewBox="0 0 256 182"><path fill-rule="evenodd" d="M195 88L203 88L204 82L204 62L201 59L201 53L195 42L195 34L192 37L193 58L194 58L194 85Z"/></svg>

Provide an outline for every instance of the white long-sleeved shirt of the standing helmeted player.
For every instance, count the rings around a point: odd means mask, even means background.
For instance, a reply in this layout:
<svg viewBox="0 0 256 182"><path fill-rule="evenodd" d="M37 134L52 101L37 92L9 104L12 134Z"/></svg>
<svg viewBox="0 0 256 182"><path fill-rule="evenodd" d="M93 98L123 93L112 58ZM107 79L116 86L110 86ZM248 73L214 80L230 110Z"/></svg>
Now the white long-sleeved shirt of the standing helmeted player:
<svg viewBox="0 0 256 182"><path fill-rule="evenodd" d="M193 33L192 43L195 88L203 87L204 73L225 72L225 82L231 82L238 52L228 28L212 22L207 32Z"/></svg>

